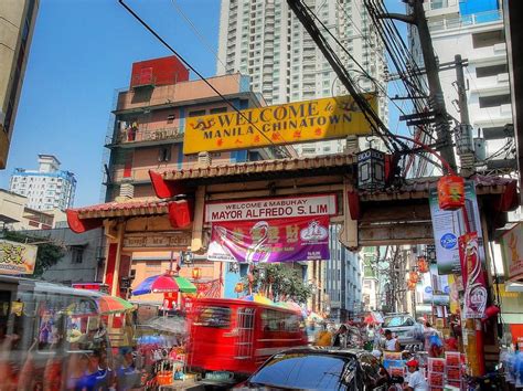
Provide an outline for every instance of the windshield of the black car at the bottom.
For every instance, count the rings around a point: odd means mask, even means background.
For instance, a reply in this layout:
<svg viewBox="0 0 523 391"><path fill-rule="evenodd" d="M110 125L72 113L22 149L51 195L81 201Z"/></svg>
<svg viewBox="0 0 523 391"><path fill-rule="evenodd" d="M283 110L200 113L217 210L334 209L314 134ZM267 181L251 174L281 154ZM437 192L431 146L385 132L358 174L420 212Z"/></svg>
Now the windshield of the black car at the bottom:
<svg viewBox="0 0 523 391"><path fill-rule="evenodd" d="M354 359L287 353L273 357L249 382L300 390L355 390L354 372Z"/></svg>

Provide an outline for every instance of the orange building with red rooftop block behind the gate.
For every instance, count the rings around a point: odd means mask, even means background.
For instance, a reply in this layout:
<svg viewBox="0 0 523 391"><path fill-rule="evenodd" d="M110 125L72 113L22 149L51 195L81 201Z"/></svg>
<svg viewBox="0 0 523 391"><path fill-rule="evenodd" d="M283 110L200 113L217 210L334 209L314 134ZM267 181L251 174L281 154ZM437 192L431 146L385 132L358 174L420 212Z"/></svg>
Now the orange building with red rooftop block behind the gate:
<svg viewBox="0 0 523 391"><path fill-rule="evenodd" d="M265 106L263 97L250 91L247 76L231 74L207 81L237 109ZM274 159L276 150L271 148L183 154L186 118L232 110L204 81L190 81L189 71L174 56L132 64L129 88L117 93L110 119L114 126L106 139L105 201L110 204L157 202L149 170L190 170L202 162L214 166ZM134 276L131 288L180 263L179 251L173 252L169 246L163 246L164 250L134 251L131 245L127 249L127 241L124 245L122 264L129 266L120 271L120 276ZM217 284L217 289L225 297L237 297L234 287L246 273L244 266L238 270L221 267L218 263L200 257L192 267L182 267L180 275L191 277L193 268L201 272L200 282L223 278L223 285ZM162 295L137 296L137 299L163 300Z"/></svg>

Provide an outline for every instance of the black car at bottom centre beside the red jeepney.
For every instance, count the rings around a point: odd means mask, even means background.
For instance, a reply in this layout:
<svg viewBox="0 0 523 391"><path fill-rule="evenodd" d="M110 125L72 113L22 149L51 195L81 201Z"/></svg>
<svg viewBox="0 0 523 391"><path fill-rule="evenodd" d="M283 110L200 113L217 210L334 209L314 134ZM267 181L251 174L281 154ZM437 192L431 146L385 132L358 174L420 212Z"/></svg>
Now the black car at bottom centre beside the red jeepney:
<svg viewBox="0 0 523 391"><path fill-rule="evenodd" d="M292 348L269 358L235 390L386 390L380 362L366 350Z"/></svg>

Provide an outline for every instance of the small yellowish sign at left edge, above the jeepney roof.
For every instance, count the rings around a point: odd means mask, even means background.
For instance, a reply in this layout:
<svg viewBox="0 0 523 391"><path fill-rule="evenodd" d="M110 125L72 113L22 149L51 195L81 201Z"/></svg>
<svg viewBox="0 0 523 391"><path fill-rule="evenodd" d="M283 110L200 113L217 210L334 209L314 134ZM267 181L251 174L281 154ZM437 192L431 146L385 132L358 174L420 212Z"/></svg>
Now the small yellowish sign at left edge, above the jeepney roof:
<svg viewBox="0 0 523 391"><path fill-rule="evenodd" d="M0 240L0 274L33 274L39 247Z"/></svg>

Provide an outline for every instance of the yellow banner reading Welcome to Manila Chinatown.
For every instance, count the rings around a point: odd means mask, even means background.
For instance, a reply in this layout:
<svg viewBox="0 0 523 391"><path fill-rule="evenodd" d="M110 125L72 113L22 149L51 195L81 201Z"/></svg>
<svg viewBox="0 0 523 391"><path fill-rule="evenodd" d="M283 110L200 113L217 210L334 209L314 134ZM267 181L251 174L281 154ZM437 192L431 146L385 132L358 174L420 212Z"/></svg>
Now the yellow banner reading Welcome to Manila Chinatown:
<svg viewBox="0 0 523 391"><path fill-rule="evenodd" d="M375 95L363 97L377 112ZM371 126L351 96L186 118L183 154L260 148L270 145L369 135Z"/></svg>

